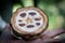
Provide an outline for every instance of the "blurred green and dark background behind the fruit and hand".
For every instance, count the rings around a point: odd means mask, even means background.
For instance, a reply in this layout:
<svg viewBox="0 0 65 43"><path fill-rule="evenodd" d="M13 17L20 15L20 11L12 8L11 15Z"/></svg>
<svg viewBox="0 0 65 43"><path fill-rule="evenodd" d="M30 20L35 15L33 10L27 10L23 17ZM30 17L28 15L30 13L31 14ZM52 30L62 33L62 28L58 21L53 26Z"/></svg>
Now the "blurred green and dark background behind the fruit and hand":
<svg viewBox="0 0 65 43"><path fill-rule="evenodd" d="M49 17L49 30L65 29L65 0L0 0L0 34L17 8L36 6ZM61 34L63 43L65 34Z"/></svg>

